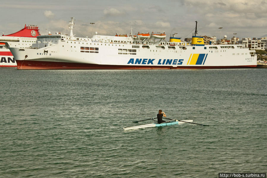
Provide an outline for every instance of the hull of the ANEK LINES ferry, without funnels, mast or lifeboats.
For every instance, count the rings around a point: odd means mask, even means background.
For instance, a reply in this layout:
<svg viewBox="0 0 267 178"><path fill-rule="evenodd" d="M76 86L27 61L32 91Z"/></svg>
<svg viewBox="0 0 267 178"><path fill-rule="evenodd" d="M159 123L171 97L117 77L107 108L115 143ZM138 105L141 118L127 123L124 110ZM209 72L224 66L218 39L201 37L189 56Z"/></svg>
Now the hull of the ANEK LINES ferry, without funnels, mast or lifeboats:
<svg viewBox="0 0 267 178"><path fill-rule="evenodd" d="M221 48L223 45L186 46L185 49L177 45L96 42L88 48L84 49L84 46L61 42L39 49L10 48L10 51L18 69L216 69L257 66L257 56L251 56L248 48L237 45L229 45L233 48Z"/></svg>

